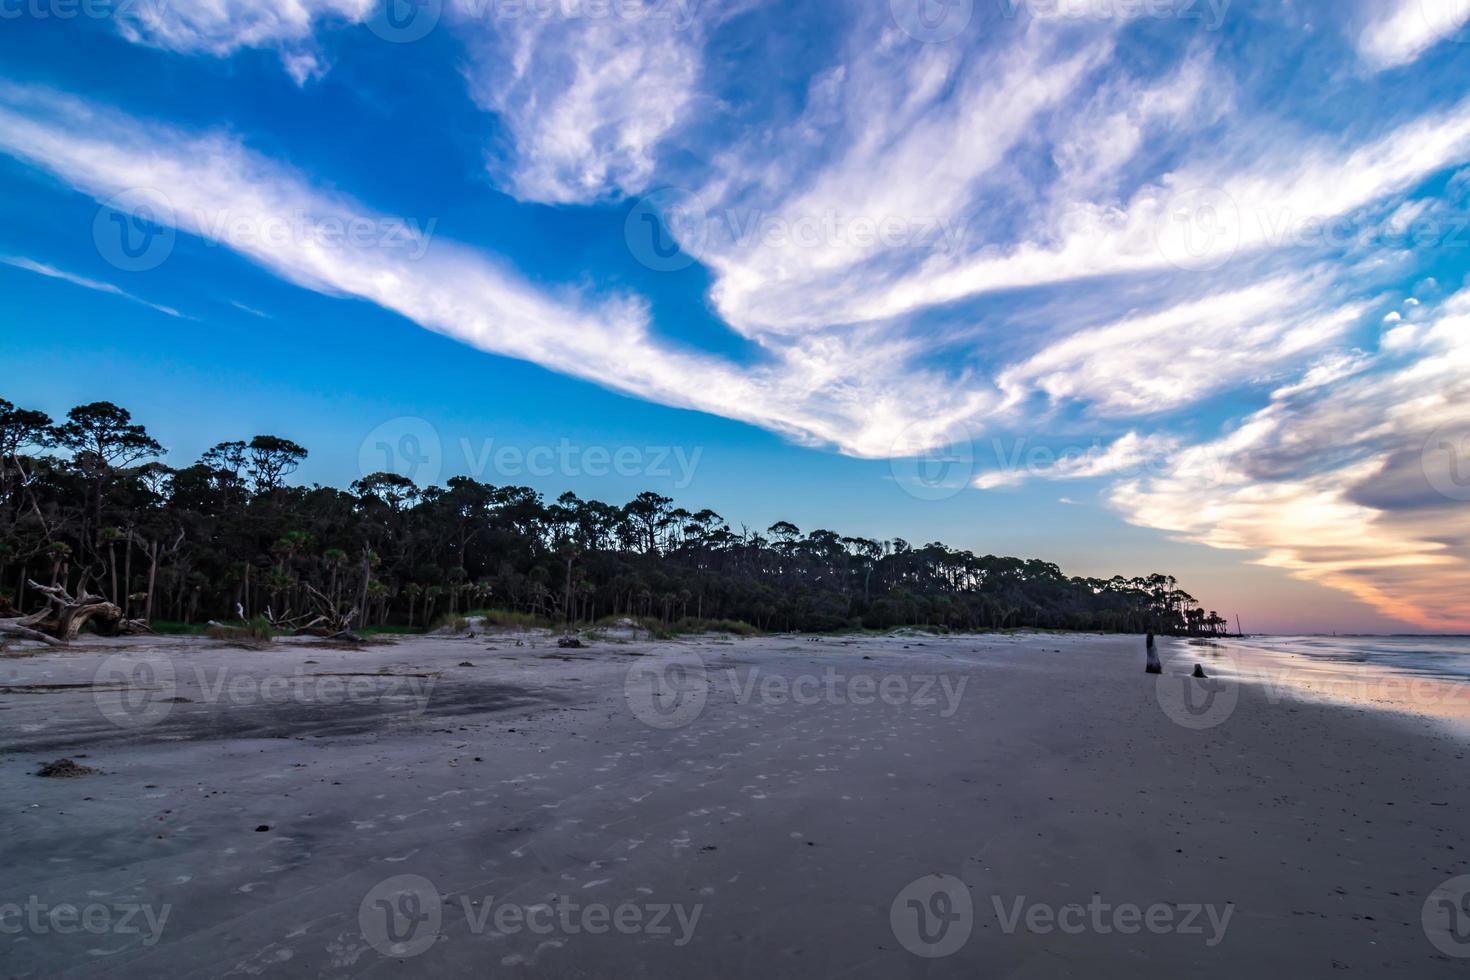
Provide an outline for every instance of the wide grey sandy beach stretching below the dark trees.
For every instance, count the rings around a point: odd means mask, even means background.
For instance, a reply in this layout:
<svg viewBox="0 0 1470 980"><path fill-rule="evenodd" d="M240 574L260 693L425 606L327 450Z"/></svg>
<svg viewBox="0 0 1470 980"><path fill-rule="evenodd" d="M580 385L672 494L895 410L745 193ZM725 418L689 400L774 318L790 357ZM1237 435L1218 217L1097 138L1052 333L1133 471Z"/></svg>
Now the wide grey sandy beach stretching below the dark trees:
<svg viewBox="0 0 1470 980"><path fill-rule="evenodd" d="M1436 895L1470 873L1452 698L1307 696L1183 641L1155 679L1136 636L585 642L12 649L3 973L1470 964Z"/></svg>

